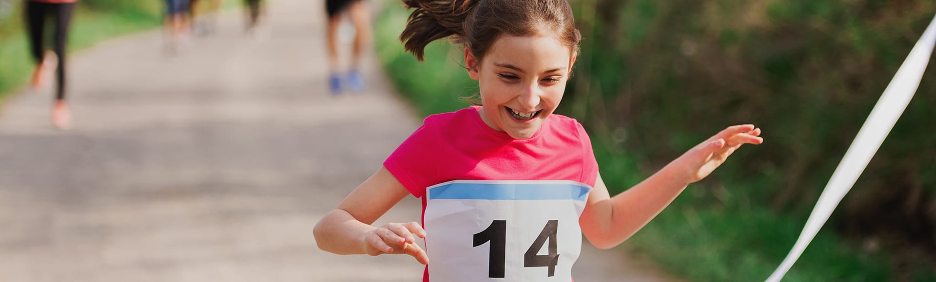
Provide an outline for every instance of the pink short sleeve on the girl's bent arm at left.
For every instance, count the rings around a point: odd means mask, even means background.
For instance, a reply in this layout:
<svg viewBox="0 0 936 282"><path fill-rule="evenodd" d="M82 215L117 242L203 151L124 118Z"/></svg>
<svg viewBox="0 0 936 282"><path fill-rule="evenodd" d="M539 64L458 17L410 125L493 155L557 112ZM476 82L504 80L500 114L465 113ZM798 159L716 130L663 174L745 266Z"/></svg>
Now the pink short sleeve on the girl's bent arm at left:
<svg viewBox="0 0 936 282"><path fill-rule="evenodd" d="M390 174L397 177L403 187L417 198L426 193L426 187L429 187L431 179L436 175L437 158L434 155L438 151L438 133L432 127L430 118L423 120L423 125L384 162Z"/></svg>

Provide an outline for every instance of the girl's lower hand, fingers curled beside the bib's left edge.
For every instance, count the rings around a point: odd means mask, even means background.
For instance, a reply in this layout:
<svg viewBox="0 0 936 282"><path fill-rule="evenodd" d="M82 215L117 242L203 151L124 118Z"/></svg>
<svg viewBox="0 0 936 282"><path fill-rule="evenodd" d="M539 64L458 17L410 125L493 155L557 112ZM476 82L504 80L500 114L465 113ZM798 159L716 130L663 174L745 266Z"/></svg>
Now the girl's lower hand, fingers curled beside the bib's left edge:
<svg viewBox="0 0 936 282"><path fill-rule="evenodd" d="M426 238L426 231L417 222L387 223L364 234L360 240L368 255L406 254L416 258L419 263L429 264L429 256L416 244L413 234Z"/></svg>

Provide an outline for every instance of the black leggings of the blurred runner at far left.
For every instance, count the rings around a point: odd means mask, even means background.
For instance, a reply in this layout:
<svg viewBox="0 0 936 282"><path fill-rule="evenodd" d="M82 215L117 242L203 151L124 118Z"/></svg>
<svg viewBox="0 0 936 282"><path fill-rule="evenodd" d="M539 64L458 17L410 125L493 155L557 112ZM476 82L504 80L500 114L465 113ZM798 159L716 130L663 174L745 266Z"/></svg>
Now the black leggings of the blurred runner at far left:
<svg viewBox="0 0 936 282"><path fill-rule="evenodd" d="M45 32L46 17L50 16L55 25L52 49L58 55L58 86L55 92L55 99L65 99L65 63L66 63L66 43L68 41L68 25L71 23L71 15L75 11L75 3L41 3L26 1L26 29L29 32L30 43L32 43L33 59L37 65L42 63L42 53L44 47L42 39Z"/></svg>

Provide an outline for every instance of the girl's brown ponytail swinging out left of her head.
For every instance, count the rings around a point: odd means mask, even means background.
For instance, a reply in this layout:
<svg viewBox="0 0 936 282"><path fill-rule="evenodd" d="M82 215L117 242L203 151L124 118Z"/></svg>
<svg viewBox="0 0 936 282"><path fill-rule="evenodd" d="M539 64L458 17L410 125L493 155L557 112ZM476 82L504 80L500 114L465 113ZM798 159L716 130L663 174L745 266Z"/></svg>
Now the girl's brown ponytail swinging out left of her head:
<svg viewBox="0 0 936 282"><path fill-rule="evenodd" d="M430 42L456 35L465 35L463 22L469 20L481 0L402 0L413 8L406 28L400 35L403 49L413 53L419 62Z"/></svg>

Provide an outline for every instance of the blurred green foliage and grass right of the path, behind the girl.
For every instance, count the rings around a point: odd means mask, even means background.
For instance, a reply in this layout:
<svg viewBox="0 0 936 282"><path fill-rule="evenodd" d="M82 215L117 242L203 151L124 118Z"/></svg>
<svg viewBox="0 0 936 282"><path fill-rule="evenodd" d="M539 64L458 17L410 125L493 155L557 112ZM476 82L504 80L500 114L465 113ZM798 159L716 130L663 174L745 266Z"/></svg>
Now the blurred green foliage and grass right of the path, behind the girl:
<svg viewBox="0 0 936 282"><path fill-rule="evenodd" d="M582 52L560 112L592 135L612 193L731 124L764 129L628 240L693 281L766 278L870 108L936 14L931 0L570 1ZM392 1L388 3L399 4ZM388 76L423 114L477 91L461 51L402 52L406 12L378 20ZM454 50L453 50L454 49ZM784 281L936 281L936 72Z"/></svg>

